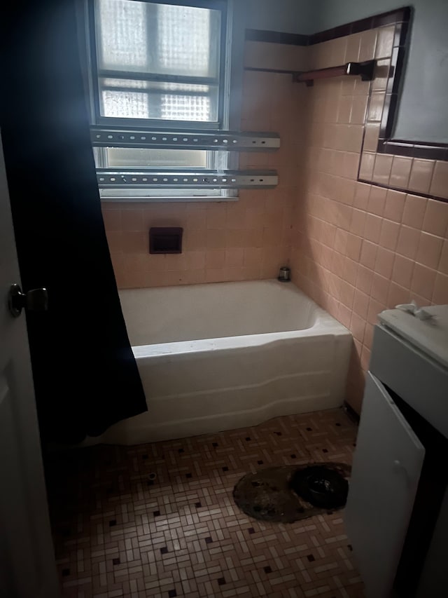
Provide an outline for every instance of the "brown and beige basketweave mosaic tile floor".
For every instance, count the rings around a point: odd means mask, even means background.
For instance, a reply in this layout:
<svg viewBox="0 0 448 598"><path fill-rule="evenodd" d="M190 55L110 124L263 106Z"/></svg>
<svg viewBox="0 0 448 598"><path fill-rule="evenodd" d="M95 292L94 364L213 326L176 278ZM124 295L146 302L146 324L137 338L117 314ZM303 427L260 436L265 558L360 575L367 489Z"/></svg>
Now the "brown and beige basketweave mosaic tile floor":
<svg viewBox="0 0 448 598"><path fill-rule="evenodd" d="M99 445L45 461L63 598L362 598L343 510L292 524L244 515L249 471L351 464L342 409L132 447Z"/></svg>

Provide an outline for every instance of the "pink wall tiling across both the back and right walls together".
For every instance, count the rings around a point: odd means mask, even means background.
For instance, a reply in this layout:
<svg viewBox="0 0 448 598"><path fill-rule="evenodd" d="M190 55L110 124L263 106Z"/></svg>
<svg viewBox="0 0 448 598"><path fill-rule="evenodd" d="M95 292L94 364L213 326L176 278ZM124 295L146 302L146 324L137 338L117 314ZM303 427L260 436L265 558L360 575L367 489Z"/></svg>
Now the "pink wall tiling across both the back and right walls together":
<svg viewBox="0 0 448 598"><path fill-rule="evenodd" d="M273 190L237 203L104 204L119 287L274 278L295 284L353 333L347 400L359 411L373 326L384 308L415 299L448 303L448 163L377 155L394 27L309 48L246 43L245 64L316 69L379 60L377 77L292 83L246 71L241 130L281 135L273 154L243 154L241 168L276 168ZM394 191L358 182L362 177ZM180 255L149 255L150 226L183 226Z"/></svg>

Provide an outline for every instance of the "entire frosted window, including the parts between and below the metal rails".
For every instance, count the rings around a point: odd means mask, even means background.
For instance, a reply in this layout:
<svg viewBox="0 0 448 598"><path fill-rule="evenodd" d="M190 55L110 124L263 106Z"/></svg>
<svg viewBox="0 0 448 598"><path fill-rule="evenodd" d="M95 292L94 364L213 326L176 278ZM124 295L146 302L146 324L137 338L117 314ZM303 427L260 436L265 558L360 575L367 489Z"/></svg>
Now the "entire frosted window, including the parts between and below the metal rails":
<svg viewBox="0 0 448 598"><path fill-rule="evenodd" d="M237 152L181 147L182 132L229 130L231 4L232 0L89 0L92 127L135 130L139 140L159 139L162 144L94 147L99 173L116 171L114 178L122 183L120 171L197 173L236 167ZM160 137L162 132L172 133L171 147L163 147L167 137ZM99 188L103 198L237 195L232 189L194 186L122 183L118 189L102 189L100 182Z"/></svg>

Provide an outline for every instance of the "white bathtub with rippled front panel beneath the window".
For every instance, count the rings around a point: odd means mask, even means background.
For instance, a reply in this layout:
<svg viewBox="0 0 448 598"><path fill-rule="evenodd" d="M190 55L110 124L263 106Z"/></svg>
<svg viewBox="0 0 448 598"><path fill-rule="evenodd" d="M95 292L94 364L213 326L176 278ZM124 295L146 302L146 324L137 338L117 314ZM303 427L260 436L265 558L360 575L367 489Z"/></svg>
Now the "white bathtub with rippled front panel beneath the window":
<svg viewBox="0 0 448 598"><path fill-rule="evenodd" d="M293 283L121 290L148 412L101 442L139 444L342 405L351 333Z"/></svg>

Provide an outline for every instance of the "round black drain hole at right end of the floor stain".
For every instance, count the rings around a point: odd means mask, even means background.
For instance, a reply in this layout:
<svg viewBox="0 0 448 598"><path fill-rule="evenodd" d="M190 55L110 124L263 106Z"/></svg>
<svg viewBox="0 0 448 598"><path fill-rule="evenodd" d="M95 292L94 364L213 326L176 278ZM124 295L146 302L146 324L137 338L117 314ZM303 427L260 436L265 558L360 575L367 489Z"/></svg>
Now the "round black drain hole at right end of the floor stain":
<svg viewBox="0 0 448 598"><path fill-rule="evenodd" d="M311 505L324 509L343 507L349 492L349 482L339 472L320 465L297 470L290 487Z"/></svg>

